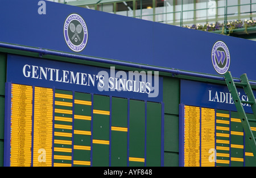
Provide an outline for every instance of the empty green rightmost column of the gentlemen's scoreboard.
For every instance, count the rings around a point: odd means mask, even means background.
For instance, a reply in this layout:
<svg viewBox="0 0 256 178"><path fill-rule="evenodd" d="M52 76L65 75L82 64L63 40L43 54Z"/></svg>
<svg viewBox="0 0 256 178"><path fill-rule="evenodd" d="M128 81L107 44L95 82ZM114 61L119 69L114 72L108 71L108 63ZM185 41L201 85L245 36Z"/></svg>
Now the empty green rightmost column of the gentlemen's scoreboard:
<svg viewBox="0 0 256 178"><path fill-rule="evenodd" d="M162 105L147 102L146 166L161 165Z"/></svg>

